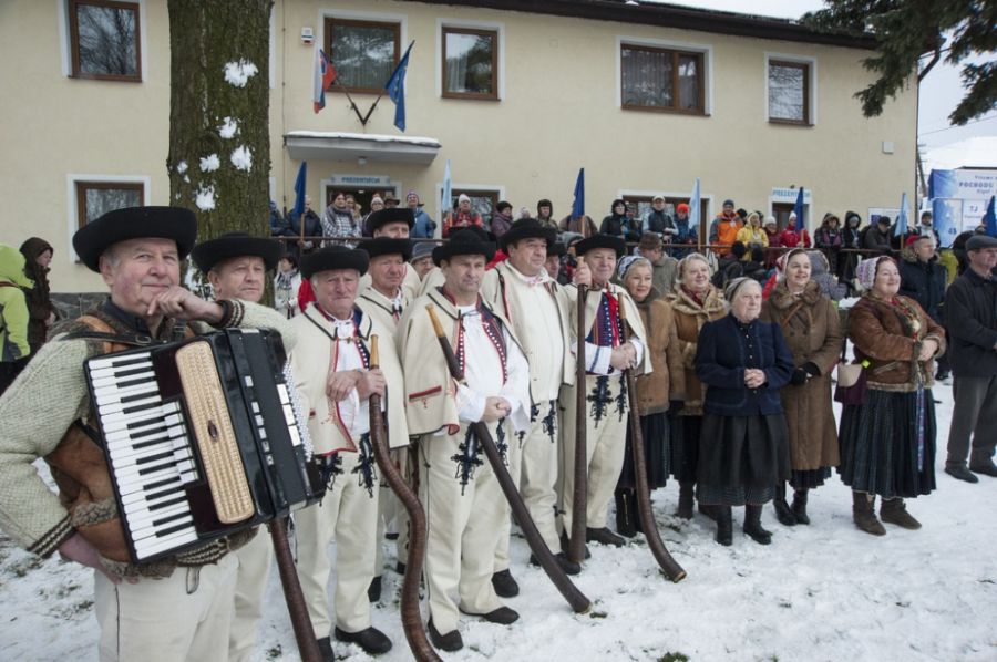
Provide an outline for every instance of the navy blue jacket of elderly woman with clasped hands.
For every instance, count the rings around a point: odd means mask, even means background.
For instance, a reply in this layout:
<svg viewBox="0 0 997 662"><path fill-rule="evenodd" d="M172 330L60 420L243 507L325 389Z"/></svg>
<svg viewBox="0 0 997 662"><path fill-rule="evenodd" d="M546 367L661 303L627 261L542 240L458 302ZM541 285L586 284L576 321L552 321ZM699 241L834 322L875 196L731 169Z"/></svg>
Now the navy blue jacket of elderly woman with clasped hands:
<svg viewBox="0 0 997 662"><path fill-rule="evenodd" d="M732 313L699 331L696 376L706 384L702 410L721 416L781 414L779 390L793 374L793 354L779 324L754 320L741 324ZM768 381L744 385L744 369L760 368Z"/></svg>

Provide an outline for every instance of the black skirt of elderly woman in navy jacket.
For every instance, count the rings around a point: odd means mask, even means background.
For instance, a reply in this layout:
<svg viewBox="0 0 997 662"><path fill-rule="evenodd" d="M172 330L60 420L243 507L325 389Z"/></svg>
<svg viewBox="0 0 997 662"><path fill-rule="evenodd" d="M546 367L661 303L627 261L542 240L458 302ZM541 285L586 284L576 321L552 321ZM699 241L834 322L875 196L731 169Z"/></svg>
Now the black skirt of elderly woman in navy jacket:
<svg viewBox="0 0 997 662"><path fill-rule="evenodd" d="M763 503L789 477L789 431L782 414L702 417L700 500L731 506Z"/></svg>

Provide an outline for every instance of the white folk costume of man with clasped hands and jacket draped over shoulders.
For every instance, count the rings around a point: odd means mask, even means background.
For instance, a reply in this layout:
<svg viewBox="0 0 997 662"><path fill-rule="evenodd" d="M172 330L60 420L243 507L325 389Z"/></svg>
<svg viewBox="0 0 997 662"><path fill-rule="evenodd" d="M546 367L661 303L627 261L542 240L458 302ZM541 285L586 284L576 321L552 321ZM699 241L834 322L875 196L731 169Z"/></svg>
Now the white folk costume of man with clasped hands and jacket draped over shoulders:
<svg viewBox="0 0 997 662"><path fill-rule="evenodd" d="M464 369L466 385L450 376L425 310L430 303ZM436 631L448 633L458 628L459 608L485 614L502 607L491 577L508 505L469 423L481 420L487 396L501 396L512 406L511 414L489 424L500 451L513 441L516 430L525 430L528 366L498 311L482 301L458 308L441 290L411 306L402 320L400 342L410 375L405 382L409 432L419 435L420 444L430 618ZM459 602L453 596L459 596Z"/></svg>

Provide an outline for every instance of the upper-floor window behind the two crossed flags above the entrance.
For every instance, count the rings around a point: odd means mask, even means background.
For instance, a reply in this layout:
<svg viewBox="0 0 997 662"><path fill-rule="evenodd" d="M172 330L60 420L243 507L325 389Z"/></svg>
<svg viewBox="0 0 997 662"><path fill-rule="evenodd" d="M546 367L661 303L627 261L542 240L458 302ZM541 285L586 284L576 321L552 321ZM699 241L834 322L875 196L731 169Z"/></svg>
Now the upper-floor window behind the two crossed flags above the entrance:
<svg viewBox="0 0 997 662"><path fill-rule="evenodd" d="M398 65L400 42L400 23L326 19L326 52L350 92L380 94Z"/></svg>

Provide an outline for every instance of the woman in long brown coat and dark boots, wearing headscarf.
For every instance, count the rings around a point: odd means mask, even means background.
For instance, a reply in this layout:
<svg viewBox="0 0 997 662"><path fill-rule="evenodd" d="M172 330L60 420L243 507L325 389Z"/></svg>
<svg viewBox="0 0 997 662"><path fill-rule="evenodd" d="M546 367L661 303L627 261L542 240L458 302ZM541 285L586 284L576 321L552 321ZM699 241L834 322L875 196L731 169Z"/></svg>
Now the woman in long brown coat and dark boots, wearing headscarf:
<svg viewBox="0 0 997 662"><path fill-rule="evenodd" d="M831 408L831 371L843 342L837 309L811 278L810 255L801 248L787 254L785 270L762 304L761 319L782 328L793 354L792 377L779 395L789 430L793 505L785 485L775 488L775 516L785 526L810 524L806 496L837 466L837 426ZM823 259L824 256L818 254Z"/></svg>

